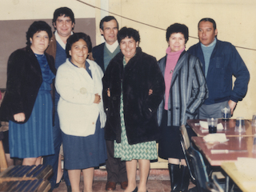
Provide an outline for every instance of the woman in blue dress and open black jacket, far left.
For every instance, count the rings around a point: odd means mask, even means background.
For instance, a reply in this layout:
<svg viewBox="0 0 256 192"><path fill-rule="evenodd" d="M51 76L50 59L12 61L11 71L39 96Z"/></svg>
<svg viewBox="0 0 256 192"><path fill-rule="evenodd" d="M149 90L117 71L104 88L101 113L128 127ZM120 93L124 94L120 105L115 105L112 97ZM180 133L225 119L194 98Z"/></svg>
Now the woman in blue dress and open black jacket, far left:
<svg viewBox="0 0 256 192"><path fill-rule="evenodd" d="M9 120L10 157L23 165L38 165L54 154L50 84L54 58L45 53L52 36L46 22L34 22L26 32L27 46L10 55L6 95L1 114Z"/></svg>

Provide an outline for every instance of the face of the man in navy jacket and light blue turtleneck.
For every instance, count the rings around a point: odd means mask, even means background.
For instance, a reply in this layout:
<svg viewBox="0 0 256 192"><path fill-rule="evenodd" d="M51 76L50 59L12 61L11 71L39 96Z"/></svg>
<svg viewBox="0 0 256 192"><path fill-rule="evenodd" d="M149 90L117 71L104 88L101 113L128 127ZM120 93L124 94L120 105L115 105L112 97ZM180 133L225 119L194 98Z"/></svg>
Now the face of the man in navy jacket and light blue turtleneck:
<svg viewBox="0 0 256 192"><path fill-rule="evenodd" d="M198 38L204 46L209 46L214 42L215 36L218 34L218 30L214 30L214 24L212 22L200 22L198 26Z"/></svg>

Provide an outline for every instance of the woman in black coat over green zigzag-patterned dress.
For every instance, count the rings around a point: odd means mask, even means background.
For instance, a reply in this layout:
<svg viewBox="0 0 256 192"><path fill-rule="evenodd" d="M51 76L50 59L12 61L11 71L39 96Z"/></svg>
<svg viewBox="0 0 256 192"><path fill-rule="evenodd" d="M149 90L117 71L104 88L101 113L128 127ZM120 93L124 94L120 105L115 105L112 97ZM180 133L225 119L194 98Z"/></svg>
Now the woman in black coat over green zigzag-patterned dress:
<svg viewBox="0 0 256 192"><path fill-rule="evenodd" d="M103 77L106 110L106 140L114 140L114 157L126 161L125 191L146 191L150 160L157 159L159 138L156 111L164 93L164 82L156 59L138 47L137 30L118 31L121 52ZM136 187L137 163L140 182Z"/></svg>

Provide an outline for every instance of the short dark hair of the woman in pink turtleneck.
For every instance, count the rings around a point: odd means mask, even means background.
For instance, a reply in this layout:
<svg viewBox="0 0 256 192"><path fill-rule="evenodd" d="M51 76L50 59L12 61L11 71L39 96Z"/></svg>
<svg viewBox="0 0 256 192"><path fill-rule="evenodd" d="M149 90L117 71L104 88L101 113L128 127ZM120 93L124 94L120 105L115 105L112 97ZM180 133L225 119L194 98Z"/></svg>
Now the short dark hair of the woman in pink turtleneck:
<svg viewBox="0 0 256 192"><path fill-rule="evenodd" d="M174 23L170 25L166 30L166 41L169 42L171 34L181 33L184 35L185 43L189 40L189 28L184 24Z"/></svg>

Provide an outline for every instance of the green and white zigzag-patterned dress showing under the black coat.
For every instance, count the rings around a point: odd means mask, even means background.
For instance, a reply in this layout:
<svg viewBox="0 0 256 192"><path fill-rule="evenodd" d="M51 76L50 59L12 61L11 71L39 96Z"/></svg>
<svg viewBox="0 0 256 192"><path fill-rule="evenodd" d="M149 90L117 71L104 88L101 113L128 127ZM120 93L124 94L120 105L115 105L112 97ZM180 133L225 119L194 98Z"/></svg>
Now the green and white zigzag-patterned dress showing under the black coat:
<svg viewBox="0 0 256 192"><path fill-rule="evenodd" d="M126 136L126 126L123 118L123 102L121 94L120 105L121 118L121 142L114 141L114 158L121 158L122 161L131 161L133 159L148 159L154 160L158 158L157 144L153 142L141 142L134 145L129 145Z"/></svg>

